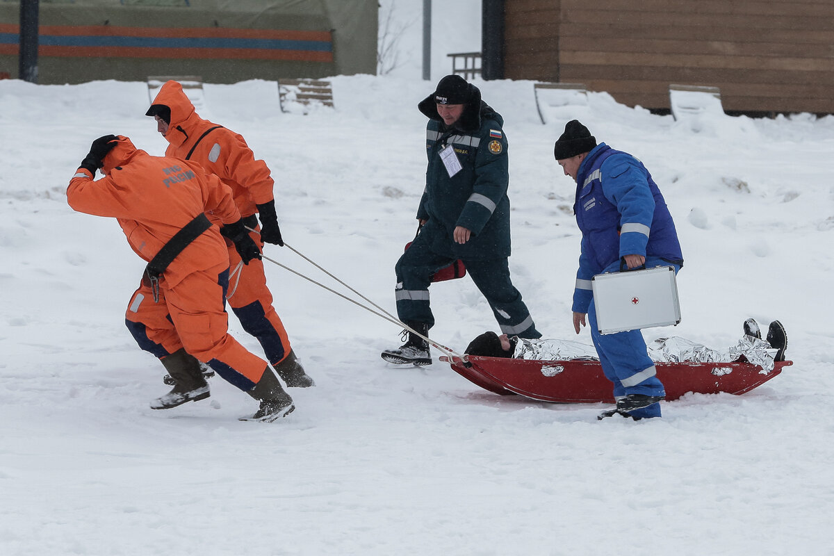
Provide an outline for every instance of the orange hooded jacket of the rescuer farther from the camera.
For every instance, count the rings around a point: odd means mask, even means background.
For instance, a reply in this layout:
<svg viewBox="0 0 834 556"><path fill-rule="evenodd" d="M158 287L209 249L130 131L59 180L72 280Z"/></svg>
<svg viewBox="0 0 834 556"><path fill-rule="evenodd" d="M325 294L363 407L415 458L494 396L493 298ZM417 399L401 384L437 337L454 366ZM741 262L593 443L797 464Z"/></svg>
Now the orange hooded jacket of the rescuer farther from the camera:
<svg viewBox="0 0 834 556"><path fill-rule="evenodd" d="M234 202L244 217L257 212L256 204L273 200L274 181L266 163L256 160L244 138L229 129L218 127L203 137L203 133L217 124L198 116L182 85L176 81L164 83L152 104L171 109L171 121L165 133L170 143L166 156L188 157L207 172L217 174L232 188ZM191 153L190 157L188 153ZM218 219L213 216L208 214L208 218L217 223Z"/></svg>

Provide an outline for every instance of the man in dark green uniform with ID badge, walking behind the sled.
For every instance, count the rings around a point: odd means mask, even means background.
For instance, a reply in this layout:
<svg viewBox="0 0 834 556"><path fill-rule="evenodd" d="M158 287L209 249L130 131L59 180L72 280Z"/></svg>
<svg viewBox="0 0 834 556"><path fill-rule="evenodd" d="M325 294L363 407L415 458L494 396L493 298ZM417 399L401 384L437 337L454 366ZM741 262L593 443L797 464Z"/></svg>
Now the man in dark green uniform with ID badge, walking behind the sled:
<svg viewBox="0 0 834 556"><path fill-rule="evenodd" d="M460 259L484 294L501 332L540 338L533 318L510 281L510 183L504 118L481 100L480 90L459 75L440 80L418 105L426 128L425 192L417 209L420 233L399 258L394 295L397 315L409 331L389 363L431 363L425 340L435 324L431 277Z"/></svg>

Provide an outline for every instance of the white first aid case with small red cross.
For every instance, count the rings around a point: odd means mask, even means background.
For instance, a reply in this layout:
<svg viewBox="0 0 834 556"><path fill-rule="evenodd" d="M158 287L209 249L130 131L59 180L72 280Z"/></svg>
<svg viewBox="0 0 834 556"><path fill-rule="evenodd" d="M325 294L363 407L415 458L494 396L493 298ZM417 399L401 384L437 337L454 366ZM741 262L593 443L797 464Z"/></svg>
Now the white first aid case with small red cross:
<svg viewBox="0 0 834 556"><path fill-rule="evenodd" d="M602 334L681 322L675 269L646 268L591 278L596 326Z"/></svg>

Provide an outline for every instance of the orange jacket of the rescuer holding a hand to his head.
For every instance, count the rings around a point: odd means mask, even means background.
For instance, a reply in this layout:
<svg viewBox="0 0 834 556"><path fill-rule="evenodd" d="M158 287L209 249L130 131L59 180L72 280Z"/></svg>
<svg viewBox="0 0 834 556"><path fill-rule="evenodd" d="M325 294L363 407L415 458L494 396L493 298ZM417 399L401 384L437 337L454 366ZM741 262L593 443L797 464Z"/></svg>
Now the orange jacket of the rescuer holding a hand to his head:
<svg viewBox="0 0 834 556"><path fill-rule="evenodd" d="M229 187L196 163L152 157L122 136L103 162L107 175L95 181L88 170L78 168L67 201L80 213L117 218L133 251L146 261L200 213L211 210L226 224L240 218ZM165 271L171 287L188 273L229 260L216 227L196 238L183 255Z"/></svg>

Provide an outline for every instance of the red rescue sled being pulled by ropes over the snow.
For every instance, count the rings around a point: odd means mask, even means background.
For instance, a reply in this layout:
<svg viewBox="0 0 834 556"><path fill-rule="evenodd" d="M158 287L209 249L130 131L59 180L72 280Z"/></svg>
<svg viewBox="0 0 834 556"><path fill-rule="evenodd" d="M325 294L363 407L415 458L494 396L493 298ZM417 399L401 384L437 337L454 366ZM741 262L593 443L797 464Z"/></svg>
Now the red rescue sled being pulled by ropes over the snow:
<svg viewBox="0 0 834 556"><path fill-rule="evenodd" d="M536 361L496 357L441 357L464 378L490 392L520 394L542 402L613 403L610 380L599 361ZM751 363L655 363L666 399L686 393L742 394L761 386L792 361L778 361L772 371Z"/></svg>

